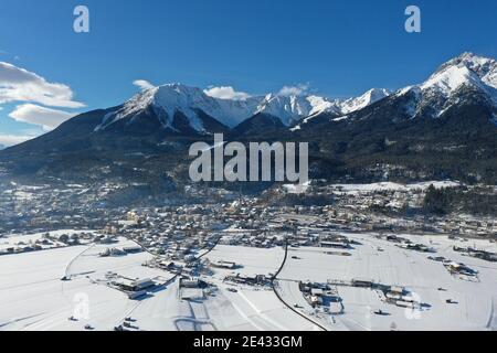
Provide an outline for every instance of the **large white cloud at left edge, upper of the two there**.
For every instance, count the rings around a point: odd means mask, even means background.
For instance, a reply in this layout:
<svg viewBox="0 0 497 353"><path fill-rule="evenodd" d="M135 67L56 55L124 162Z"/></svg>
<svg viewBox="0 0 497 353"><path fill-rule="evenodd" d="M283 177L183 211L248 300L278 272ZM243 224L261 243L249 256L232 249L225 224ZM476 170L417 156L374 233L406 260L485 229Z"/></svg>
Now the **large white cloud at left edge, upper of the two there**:
<svg viewBox="0 0 497 353"><path fill-rule="evenodd" d="M85 106L73 100L73 90L67 85L49 83L35 73L0 62L0 104L30 101L64 108Z"/></svg>

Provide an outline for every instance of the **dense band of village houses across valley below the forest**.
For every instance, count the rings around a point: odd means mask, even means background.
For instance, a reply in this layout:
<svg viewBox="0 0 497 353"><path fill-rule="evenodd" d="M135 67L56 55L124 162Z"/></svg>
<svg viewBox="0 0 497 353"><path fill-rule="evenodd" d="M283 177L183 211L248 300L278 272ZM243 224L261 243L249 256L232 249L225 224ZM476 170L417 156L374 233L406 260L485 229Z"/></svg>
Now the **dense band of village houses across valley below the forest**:
<svg viewBox="0 0 497 353"><path fill-rule="evenodd" d="M94 184L60 184L28 186L3 185L0 190L0 236L15 232L62 228L102 228L108 223L140 224L168 220L171 232L197 228L212 229L224 225L263 229L268 221L282 213L319 216L321 224L336 231L431 232L465 237L497 239L495 217L447 215L426 217L423 214L403 216L381 210L399 211L420 207L424 197L421 189L376 190L349 192L343 185L313 181L306 195L332 200L328 205L271 206L257 197L241 197L221 189L207 190L212 195L205 202L187 206L141 207L128 210L110 202L124 185L118 182ZM194 188L192 188L194 189ZM195 191L195 193L200 192ZM282 191L282 193L285 193ZM188 194L188 193L187 193ZM117 203L119 204L119 203ZM123 216L126 220L123 220ZM154 229L154 227L152 227ZM160 229L167 232L167 229ZM154 231L150 231L154 232ZM255 239L257 242L257 239ZM257 246L271 246L262 240Z"/></svg>

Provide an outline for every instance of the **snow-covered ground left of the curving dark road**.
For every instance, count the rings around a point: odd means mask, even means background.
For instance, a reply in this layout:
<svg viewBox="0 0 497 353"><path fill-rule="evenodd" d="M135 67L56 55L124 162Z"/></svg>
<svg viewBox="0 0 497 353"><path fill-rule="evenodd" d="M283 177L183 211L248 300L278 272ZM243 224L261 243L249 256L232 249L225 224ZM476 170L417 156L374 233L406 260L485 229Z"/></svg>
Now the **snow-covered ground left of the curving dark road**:
<svg viewBox="0 0 497 353"><path fill-rule="evenodd" d="M147 298L134 301L107 287L107 272L128 278L172 278L165 271L144 267L147 253L123 257L99 257L108 247L133 245L91 245L0 257L0 330L113 330L127 317L140 330L299 330L314 329L279 302L271 290L251 288L230 292L218 272L211 282L220 288L203 300L187 301L173 281ZM236 260L247 276L275 272L283 261L283 249L220 246L212 259ZM265 260L261 260L264 258ZM65 276L70 281L62 281ZM169 277L168 277L169 276ZM87 306L86 306L87 304ZM82 307L83 306L83 307ZM83 310L83 311L82 311ZM85 314L78 321L72 315Z"/></svg>

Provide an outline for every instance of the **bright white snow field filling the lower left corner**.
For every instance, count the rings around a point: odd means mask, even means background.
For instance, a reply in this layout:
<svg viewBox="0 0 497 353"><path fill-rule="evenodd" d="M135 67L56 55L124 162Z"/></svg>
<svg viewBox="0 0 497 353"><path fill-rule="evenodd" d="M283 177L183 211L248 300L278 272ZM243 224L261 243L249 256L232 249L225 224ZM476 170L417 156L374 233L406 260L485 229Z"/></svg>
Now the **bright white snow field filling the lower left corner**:
<svg viewBox="0 0 497 353"><path fill-rule="evenodd" d="M117 244L127 245L126 240ZM0 330L84 330L86 324L113 330L120 324L140 302L94 280L107 271L139 278L158 274L141 266L151 255L98 257L105 247L74 246L0 256ZM62 281L65 276L71 280ZM82 319L68 320L73 315Z"/></svg>

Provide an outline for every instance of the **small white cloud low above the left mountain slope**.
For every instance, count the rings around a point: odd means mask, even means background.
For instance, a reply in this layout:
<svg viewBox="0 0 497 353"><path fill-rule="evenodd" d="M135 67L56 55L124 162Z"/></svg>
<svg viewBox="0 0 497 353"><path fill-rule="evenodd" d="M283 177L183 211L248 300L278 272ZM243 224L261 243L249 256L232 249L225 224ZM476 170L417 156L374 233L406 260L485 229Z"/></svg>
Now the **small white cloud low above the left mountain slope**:
<svg viewBox="0 0 497 353"><path fill-rule="evenodd" d="M41 126L45 131L53 130L59 125L74 117L75 114L50 109L34 104L17 106L9 117L17 121Z"/></svg>

